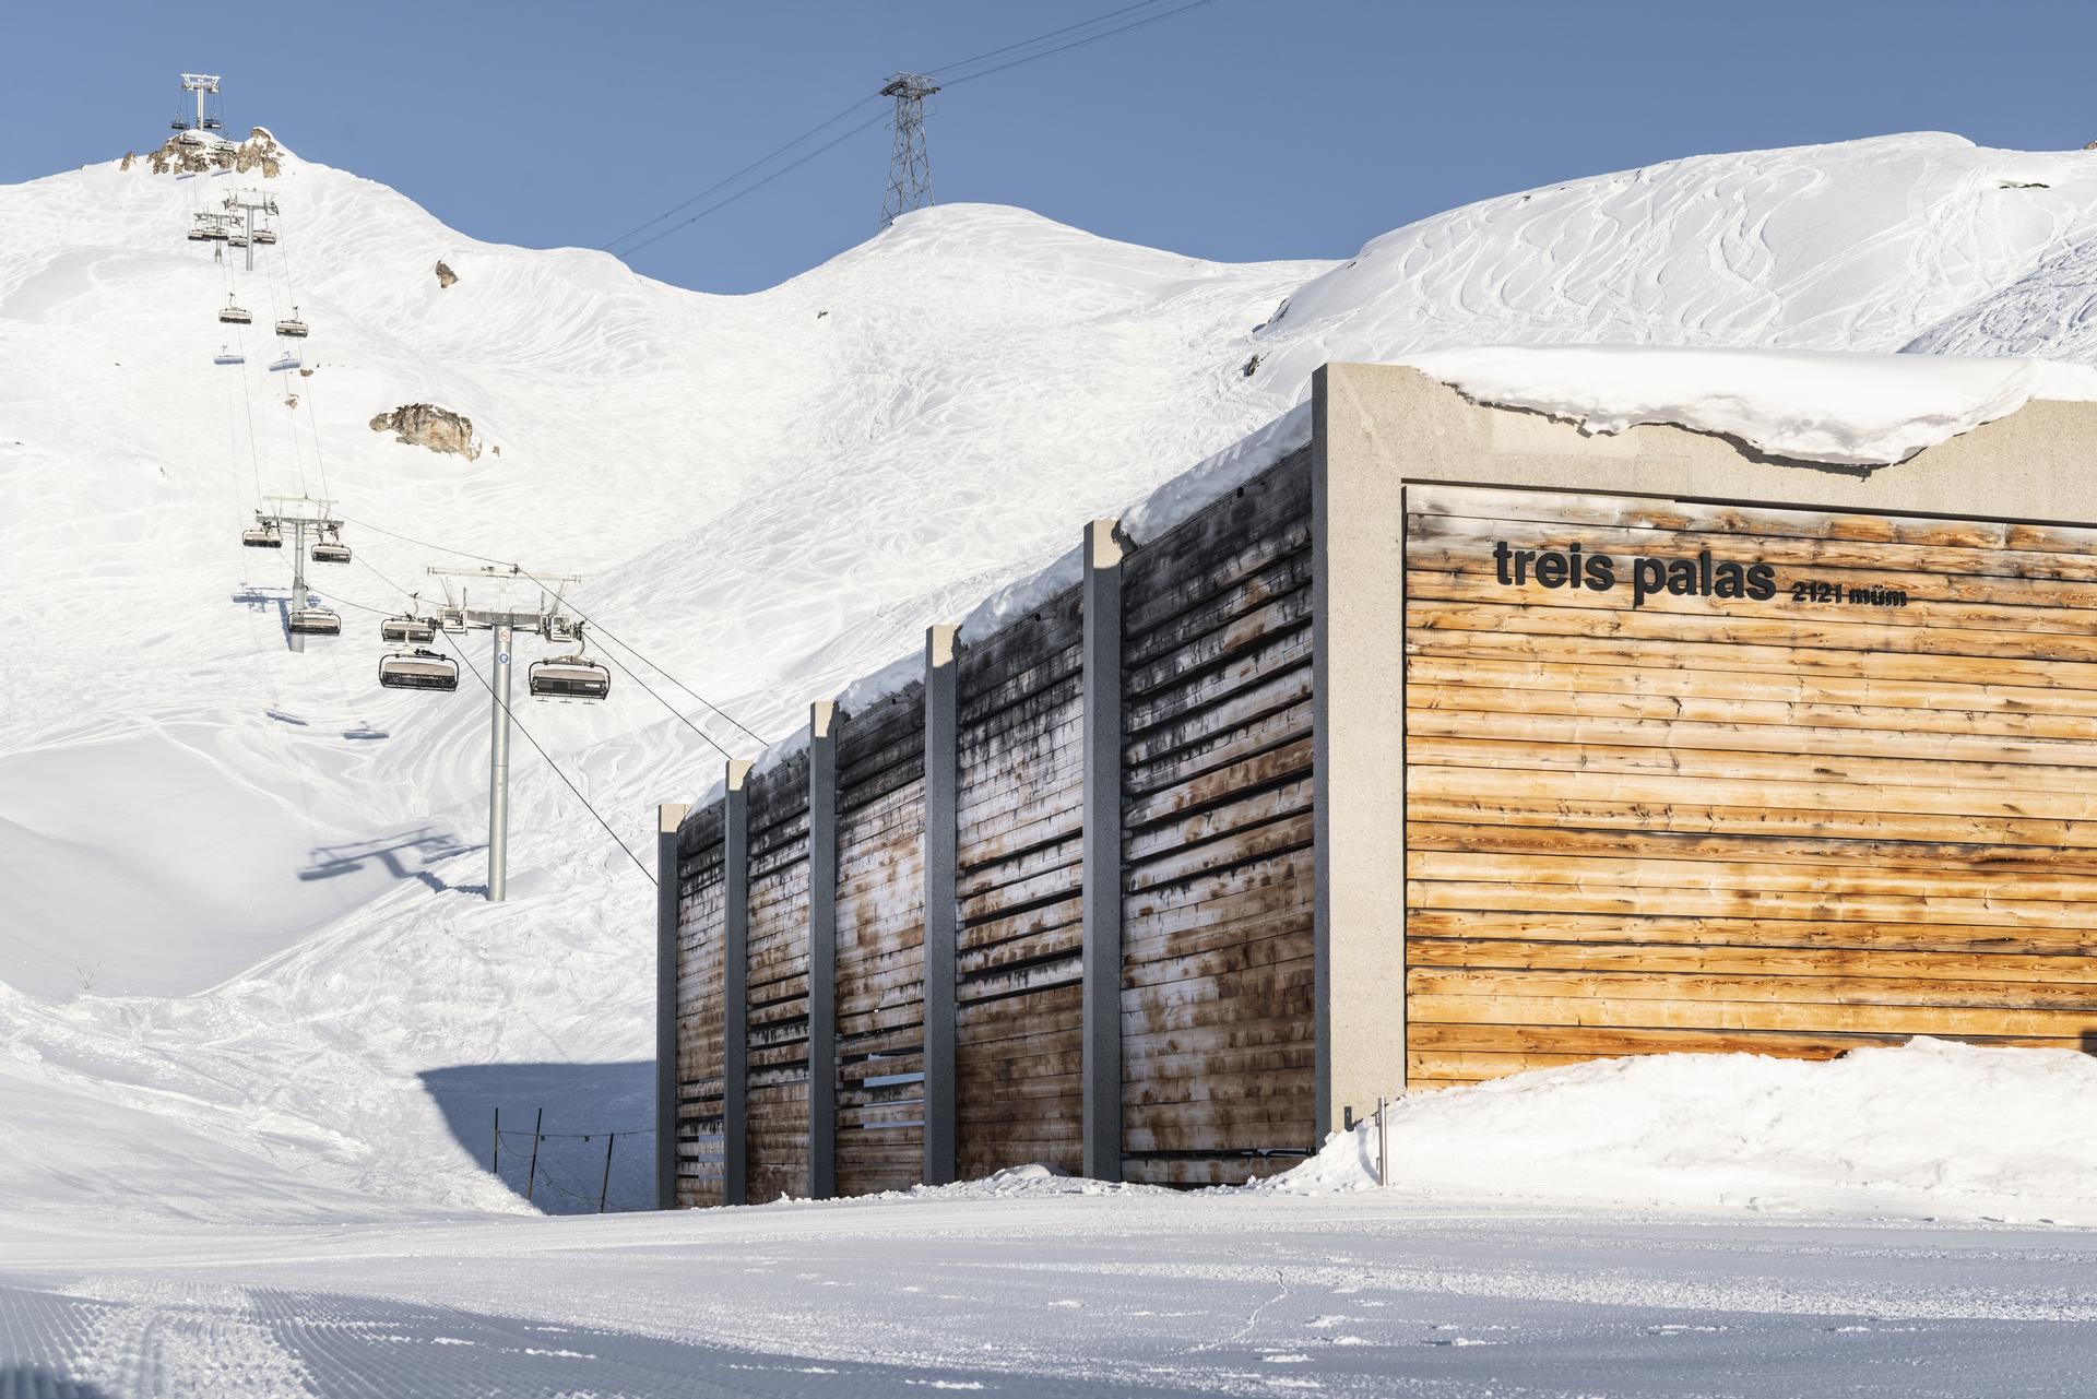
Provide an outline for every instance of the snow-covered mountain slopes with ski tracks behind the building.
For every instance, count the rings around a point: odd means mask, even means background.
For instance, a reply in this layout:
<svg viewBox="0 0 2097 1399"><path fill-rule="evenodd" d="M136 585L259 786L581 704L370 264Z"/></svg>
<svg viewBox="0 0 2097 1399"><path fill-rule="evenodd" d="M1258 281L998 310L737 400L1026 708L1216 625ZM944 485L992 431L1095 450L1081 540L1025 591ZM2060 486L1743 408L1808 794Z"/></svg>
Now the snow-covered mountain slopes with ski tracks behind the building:
<svg viewBox="0 0 2097 1399"><path fill-rule="evenodd" d="M185 239L235 189L281 210L256 273ZM461 1143L487 1107L646 1120L652 887L520 742L512 902L472 889L484 698L373 677L375 610L432 596L426 564L587 575L579 606L663 667L640 675L753 753L692 692L791 730L1327 359L2097 361L2097 153L1942 134L1573 180L1344 264L946 206L736 298L478 243L291 155L4 187L0 239L0 1206L216 1219L514 1208ZM229 296L254 329L218 323ZM294 304L310 375L266 367ZM480 455L371 430L409 403L470 415ZM346 631L289 654L289 562L237 531L300 491L338 501L359 562L310 571ZM719 770L627 680L522 717L644 858L652 803ZM572 1063L610 1068L533 1068Z"/></svg>

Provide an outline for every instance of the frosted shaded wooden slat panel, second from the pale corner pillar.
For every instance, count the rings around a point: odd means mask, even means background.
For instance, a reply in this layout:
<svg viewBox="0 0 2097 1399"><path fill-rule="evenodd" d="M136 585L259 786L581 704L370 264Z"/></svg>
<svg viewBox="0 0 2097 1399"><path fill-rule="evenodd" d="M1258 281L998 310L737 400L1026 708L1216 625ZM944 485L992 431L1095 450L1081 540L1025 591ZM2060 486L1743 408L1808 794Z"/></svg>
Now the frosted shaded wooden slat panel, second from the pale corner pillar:
<svg viewBox="0 0 2097 1399"><path fill-rule="evenodd" d="M1080 640L1069 589L956 661L960 1179L1082 1164Z"/></svg>

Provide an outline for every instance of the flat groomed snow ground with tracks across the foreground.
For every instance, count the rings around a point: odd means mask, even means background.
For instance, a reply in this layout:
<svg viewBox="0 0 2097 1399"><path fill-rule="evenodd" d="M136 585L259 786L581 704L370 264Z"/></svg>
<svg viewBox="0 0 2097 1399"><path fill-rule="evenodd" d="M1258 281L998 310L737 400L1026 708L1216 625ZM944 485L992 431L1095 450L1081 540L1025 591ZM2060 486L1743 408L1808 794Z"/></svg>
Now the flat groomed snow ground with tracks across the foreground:
<svg viewBox="0 0 2097 1399"><path fill-rule="evenodd" d="M2097 1344L2070 1231L1137 1193L115 1252L0 1267L13 1393L1971 1399L2084 1393Z"/></svg>

